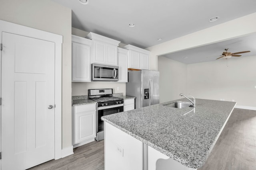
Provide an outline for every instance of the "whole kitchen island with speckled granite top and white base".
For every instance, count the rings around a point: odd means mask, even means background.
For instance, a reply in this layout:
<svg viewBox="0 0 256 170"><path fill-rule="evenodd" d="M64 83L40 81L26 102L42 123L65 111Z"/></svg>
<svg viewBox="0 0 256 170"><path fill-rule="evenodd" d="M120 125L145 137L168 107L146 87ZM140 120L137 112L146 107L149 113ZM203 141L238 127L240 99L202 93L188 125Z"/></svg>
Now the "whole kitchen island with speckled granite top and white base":
<svg viewBox="0 0 256 170"><path fill-rule="evenodd" d="M196 99L195 108L168 106L175 101L187 102L174 100L102 117L105 170L202 167L236 102Z"/></svg>

